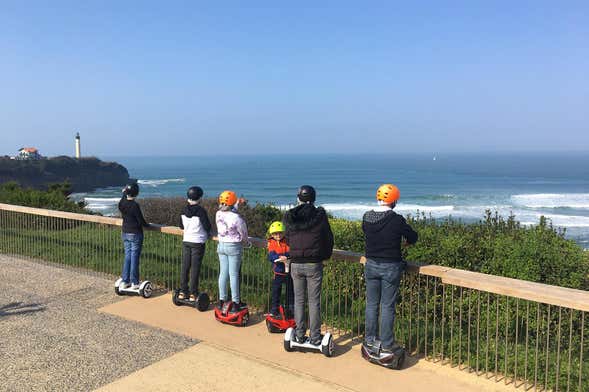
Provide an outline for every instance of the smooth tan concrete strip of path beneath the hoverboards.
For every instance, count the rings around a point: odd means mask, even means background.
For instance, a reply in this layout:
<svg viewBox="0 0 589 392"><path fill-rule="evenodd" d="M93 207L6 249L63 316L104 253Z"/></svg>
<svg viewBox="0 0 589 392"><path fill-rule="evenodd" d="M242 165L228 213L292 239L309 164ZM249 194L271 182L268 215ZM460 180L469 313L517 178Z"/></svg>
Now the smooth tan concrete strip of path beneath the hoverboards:
<svg viewBox="0 0 589 392"><path fill-rule="evenodd" d="M213 311L176 307L171 296L129 298L101 311L197 338L203 343L147 367L103 390L353 390L506 391L483 377L427 361L410 360L402 371L364 361L359 345L338 342L336 355L287 353L282 334L269 334L263 322L246 328L220 324ZM314 389L319 388L319 389Z"/></svg>

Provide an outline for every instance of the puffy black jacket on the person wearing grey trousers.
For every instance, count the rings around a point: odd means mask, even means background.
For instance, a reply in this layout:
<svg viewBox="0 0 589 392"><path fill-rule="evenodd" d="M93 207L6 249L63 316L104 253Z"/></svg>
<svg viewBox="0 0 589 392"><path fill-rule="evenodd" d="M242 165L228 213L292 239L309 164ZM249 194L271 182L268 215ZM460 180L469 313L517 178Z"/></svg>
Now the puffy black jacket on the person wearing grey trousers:
<svg viewBox="0 0 589 392"><path fill-rule="evenodd" d="M301 204L284 215L292 263L319 263L331 257L333 233L327 213L313 204Z"/></svg>

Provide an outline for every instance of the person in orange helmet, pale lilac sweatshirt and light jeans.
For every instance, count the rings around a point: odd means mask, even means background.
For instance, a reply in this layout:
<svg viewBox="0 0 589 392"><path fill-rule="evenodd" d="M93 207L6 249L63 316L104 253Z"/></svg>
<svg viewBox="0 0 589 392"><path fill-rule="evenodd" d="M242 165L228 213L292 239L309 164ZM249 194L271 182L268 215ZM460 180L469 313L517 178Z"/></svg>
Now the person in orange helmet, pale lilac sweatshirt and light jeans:
<svg viewBox="0 0 589 392"><path fill-rule="evenodd" d="M241 302L239 291L239 272L243 255L243 245L249 243L247 225L237 213L238 199L233 191L219 195L219 211L215 215L219 244L219 308L228 300L227 281L231 288L231 312L236 313L245 304Z"/></svg>

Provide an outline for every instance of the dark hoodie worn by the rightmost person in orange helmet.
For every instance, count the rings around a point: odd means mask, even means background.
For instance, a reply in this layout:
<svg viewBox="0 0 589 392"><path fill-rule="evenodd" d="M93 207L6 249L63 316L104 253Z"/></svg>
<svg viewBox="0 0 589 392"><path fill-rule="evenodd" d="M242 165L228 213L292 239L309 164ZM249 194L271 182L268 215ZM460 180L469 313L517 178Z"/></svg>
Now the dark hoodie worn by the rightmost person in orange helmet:
<svg viewBox="0 0 589 392"><path fill-rule="evenodd" d="M380 262L403 261L401 240L405 238L409 244L417 241L417 232L392 209L367 211L362 218L362 230L366 238L366 257Z"/></svg>

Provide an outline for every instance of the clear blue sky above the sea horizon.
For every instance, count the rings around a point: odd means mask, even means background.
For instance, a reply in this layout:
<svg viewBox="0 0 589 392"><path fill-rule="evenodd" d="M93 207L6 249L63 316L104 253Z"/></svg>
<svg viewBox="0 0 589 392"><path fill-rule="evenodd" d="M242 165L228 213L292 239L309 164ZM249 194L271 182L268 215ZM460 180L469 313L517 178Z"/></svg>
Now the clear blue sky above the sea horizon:
<svg viewBox="0 0 589 392"><path fill-rule="evenodd" d="M589 150L589 3L317 3L1 2L0 154Z"/></svg>

